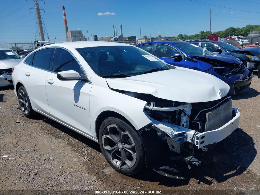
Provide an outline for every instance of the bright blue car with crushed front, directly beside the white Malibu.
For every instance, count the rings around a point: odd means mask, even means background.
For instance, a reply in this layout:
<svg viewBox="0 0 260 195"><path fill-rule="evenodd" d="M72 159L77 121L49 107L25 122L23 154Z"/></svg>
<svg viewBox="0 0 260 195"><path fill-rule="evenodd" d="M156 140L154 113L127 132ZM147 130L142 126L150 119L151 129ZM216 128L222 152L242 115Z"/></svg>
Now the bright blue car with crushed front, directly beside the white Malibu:
<svg viewBox="0 0 260 195"><path fill-rule="evenodd" d="M229 95L234 95L250 87L253 75L242 61L231 55L214 54L206 52L195 44L182 41L158 41L136 45L164 62L203 71L214 75L230 86Z"/></svg>

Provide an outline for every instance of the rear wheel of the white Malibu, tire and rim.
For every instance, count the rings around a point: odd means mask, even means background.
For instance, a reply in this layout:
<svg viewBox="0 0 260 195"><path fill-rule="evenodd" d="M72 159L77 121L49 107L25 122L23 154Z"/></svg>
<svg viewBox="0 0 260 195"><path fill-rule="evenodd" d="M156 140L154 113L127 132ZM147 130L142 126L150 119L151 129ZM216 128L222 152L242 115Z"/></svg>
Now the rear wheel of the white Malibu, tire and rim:
<svg viewBox="0 0 260 195"><path fill-rule="evenodd" d="M20 108L22 110L22 113L24 114L24 116L26 116L27 118L30 118L33 114L34 114L34 110L32 108L28 93L25 89L25 87L21 86L18 89L18 101L19 101L19 105Z"/></svg>

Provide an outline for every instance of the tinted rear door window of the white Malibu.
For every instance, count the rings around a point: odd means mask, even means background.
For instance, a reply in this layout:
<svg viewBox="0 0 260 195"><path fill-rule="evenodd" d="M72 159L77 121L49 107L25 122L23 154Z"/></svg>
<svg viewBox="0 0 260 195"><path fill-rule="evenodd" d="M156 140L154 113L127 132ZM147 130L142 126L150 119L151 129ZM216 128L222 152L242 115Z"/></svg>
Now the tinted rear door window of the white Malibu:
<svg viewBox="0 0 260 195"><path fill-rule="evenodd" d="M44 70L49 70L52 51L53 48L36 51L33 59L33 66Z"/></svg>

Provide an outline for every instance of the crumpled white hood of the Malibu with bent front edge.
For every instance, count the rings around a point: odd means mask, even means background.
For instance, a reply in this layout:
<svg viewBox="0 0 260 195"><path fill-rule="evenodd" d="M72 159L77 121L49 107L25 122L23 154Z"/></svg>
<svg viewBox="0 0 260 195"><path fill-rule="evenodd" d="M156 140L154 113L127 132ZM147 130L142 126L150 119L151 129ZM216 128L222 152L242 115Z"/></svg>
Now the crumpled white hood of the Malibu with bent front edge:
<svg viewBox="0 0 260 195"><path fill-rule="evenodd" d="M182 67L126 78L107 78L106 82L113 89L185 103L218 100L230 88L213 75Z"/></svg>

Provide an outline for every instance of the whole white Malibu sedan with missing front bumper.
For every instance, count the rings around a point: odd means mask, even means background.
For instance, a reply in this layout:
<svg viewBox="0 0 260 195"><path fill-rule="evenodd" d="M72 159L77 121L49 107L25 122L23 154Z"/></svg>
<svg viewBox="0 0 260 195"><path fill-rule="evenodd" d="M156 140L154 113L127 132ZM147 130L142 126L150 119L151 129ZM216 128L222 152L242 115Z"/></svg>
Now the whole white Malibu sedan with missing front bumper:
<svg viewBox="0 0 260 195"><path fill-rule="evenodd" d="M226 83L127 44L44 46L12 75L26 117L41 113L99 142L109 164L127 175L153 162L161 142L183 153L189 168L198 165L196 151L207 151L239 124Z"/></svg>

